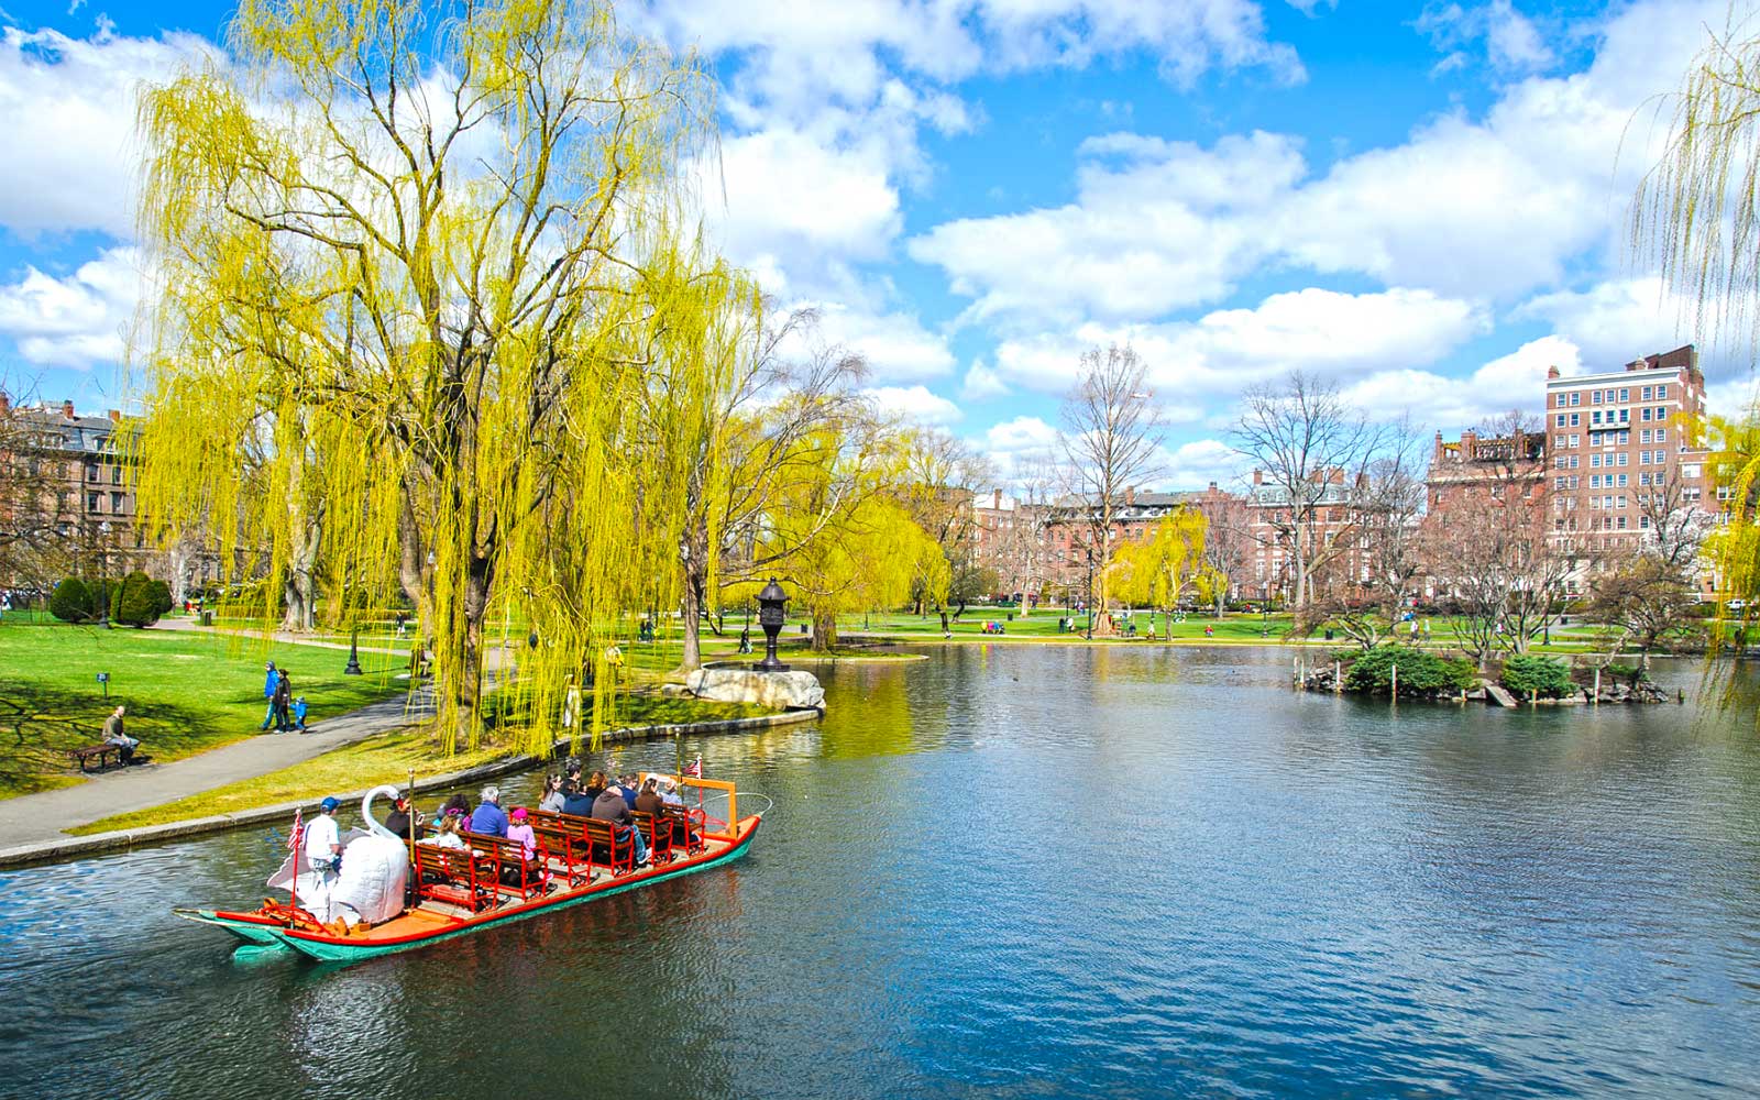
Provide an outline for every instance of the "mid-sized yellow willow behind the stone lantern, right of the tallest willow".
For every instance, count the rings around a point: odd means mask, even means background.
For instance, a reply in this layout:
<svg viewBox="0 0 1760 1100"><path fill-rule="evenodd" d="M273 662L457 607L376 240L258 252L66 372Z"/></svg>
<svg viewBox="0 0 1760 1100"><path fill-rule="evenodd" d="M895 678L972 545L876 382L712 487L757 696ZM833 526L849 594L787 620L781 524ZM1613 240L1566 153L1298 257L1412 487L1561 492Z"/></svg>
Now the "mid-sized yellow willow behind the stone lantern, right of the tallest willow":
<svg viewBox="0 0 1760 1100"><path fill-rule="evenodd" d="M667 306L653 326L635 445L655 482L651 524L678 551L676 584L656 583L655 605L678 604L679 665L690 671L702 664L704 623L715 628L729 598L841 537L880 484L871 466L884 449L855 391L862 363L838 348L792 350L815 327L810 312L774 315L750 276L695 245L672 246L644 278Z"/></svg>

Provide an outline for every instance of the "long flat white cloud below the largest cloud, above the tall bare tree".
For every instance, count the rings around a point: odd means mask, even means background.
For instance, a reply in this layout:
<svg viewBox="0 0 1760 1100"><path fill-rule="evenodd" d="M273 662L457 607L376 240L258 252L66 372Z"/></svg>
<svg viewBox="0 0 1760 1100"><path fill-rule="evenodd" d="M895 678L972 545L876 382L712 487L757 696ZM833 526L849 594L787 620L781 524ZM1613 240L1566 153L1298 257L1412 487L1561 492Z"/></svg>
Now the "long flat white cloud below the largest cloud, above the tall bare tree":
<svg viewBox="0 0 1760 1100"><path fill-rule="evenodd" d="M1063 392L1077 359L1095 345L1128 343L1149 364L1163 401L1232 394L1290 370L1327 377L1434 363L1487 329L1471 303L1429 290L1380 294L1292 290L1251 310L1216 310L1195 322L1100 326L1003 340L998 375L1028 389ZM1172 419L1193 419L1174 410Z"/></svg>

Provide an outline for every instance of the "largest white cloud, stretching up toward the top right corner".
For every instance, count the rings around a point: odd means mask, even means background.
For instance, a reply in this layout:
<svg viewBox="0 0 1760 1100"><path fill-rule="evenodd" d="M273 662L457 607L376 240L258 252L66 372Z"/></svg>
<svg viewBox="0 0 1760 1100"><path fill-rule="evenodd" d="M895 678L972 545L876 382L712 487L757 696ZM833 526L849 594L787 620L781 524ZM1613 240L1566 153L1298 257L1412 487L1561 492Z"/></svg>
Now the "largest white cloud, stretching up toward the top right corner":
<svg viewBox="0 0 1760 1100"><path fill-rule="evenodd" d="M1072 202L947 222L908 250L947 271L973 319L1003 327L1155 320L1272 264L1510 301L1558 285L1579 257L1623 250L1630 195L1660 137L1630 127L1658 86L1632 74L1681 72L1718 11L1714 0L1621 7L1586 72L1517 81L1482 116L1427 120L1320 176L1276 134L1207 150L1095 139ZM1507 14L1515 26L1519 12Z"/></svg>

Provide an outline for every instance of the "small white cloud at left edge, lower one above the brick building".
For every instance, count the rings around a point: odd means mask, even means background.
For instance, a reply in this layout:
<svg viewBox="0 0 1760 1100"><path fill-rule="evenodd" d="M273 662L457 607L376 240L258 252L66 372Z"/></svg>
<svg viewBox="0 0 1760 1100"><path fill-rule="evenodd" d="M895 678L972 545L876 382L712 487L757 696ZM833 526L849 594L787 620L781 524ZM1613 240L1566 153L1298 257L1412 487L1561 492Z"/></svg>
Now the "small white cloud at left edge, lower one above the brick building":
<svg viewBox="0 0 1760 1100"><path fill-rule="evenodd" d="M139 253L111 248L67 278L26 268L0 285L0 336L30 363L92 368L118 363L141 296Z"/></svg>

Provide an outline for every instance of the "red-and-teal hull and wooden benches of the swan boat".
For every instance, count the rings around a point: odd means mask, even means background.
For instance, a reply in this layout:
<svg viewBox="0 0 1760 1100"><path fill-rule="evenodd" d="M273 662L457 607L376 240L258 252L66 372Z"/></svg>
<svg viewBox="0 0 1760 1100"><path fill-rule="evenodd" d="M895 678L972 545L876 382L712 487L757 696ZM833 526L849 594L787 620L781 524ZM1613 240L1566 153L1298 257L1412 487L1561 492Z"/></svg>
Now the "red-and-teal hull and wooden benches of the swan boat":
<svg viewBox="0 0 1760 1100"><path fill-rule="evenodd" d="M398 794L394 787L375 787L361 799L366 831L352 831L348 845L359 836L389 838L403 845L412 903L396 915L380 922L322 920L310 908L301 908L297 889L287 903L264 899L250 912L176 908L172 913L225 929L259 950L289 949L322 963L359 963L720 868L752 848L762 813L737 817L732 783L688 774L671 778L699 792L725 792L727 822L708 817L700 808L685 811L681 820L688 824L681 834L686 840L665 845L656 843L649 832L653 859L646 864L637 866L634 852L620 852L616 843L607 845L609 836L600 822L567 815L546 815L539 852L530 861L505 850L496 852L493 841L473 834L466 834L470 848L465 850L414 843L412 838L400 838L385 829L373 815L375 797ZM649 824L648 829L655 825ZM519 845L510 848L517 852ZM287 878L294 862L289 857L269 884L283 885L282 878ZM521 866L516 868L516 862ZM297 880L289 882L297 885Z"/></svg>

